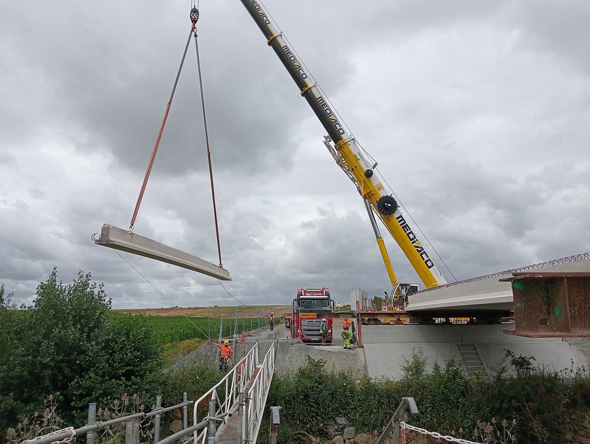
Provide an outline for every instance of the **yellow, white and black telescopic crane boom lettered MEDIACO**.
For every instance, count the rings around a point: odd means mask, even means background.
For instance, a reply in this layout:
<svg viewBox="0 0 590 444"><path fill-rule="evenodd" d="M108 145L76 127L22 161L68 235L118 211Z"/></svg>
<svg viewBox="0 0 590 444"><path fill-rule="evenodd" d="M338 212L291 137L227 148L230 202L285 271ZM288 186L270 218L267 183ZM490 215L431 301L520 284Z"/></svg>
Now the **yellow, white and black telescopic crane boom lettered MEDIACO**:
<svg viewBox="0 0 590 444"><path fill-rule="evenodd" d="M301 96L307 100L324 129L332 138L337 153L345 162L346 168L348 168L347 174L349 177L351 174L353 175L354 179L350 178L353 182L356 182L360 195L369 200L371 207L381 218L405 256L408 257L409 262L424 285L430 288L446 283L430 255L418 241L415 231L412 230L408 221L399 211L395 200L391 198L395 205L393 207L389 205L392 210L391 212L386 211L389 214L383 214L379 210L379 200L391 196L392 192L386 188L385 181L376 172L373 172L376 164L369 161L368 156L364 154L363 149L342 122L342 119L333 110L329 100L317 86L311 74L307 72L297 54L287 43L276 23L257 0L241 0L241 2L267 38L268 45L273 48L287 71L289 71L297 87L299 87ZM343 169L345 168L342 164L340 166Z"/></svg>

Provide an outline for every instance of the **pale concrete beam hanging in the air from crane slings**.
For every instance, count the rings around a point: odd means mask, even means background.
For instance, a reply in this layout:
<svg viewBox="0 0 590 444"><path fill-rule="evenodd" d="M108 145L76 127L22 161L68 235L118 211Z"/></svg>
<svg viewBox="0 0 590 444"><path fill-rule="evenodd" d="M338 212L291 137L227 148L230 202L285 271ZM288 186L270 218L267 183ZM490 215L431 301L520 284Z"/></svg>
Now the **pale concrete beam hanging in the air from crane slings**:
<svg viewBox="0 0 590 444"><path fill-rule="evenodd" d="M231 280L230 272L223 267L112 225L104 224L100 230L100 236L98 238L93 236L93 239L95 244L103 247L149 257L204 275L217 277L220 280Z"/></svg>

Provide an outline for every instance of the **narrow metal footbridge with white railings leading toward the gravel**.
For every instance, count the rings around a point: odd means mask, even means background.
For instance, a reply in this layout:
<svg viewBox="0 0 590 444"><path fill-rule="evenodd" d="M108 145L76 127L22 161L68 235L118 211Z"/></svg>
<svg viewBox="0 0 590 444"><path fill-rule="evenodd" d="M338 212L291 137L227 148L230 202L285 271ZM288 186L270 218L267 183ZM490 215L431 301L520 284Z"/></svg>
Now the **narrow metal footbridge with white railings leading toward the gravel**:
<svg viewBox="0 0 590 444"><path fill-rule="evenodd" d="M258 343L254 344L221 381L195 402L195 424L223 416L215 429L212 421L207 429L195 433L195 444L205 444L206 440L208 444L256 443L274 374L275 345L271 344L259 364Z"/></svg>

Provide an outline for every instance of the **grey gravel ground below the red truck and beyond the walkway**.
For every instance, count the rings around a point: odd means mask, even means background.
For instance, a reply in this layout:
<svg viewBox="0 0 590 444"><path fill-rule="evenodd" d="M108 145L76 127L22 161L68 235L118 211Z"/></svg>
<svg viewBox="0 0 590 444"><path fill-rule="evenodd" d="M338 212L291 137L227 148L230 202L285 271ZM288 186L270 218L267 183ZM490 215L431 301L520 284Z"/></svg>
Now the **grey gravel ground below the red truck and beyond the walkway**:
<svg viewBox="0 0 590 444"><path fill-rule="evenodd" d="M314 360L326 361L326 370L345 371L356 377L366 375L365 354L361 348L346 350L343 348L343 341L340 337L342 319L335 319L334 343L330 345L307 345L300 341L287 339L289 329L284 324L277 325L273 331L268 328L259 329L246 335L246 342L238 342L234 347L234 356L241 357L258 342L258 360L264 360L270 345L274 342L277 347L275 365L277 373L284 375L289 371L297 371L299 367L307 363L307 356ZM238 338L239 340L239 338ZM211 344L204 344L195 351L189 353L179 360L174 366L182 365L186 361L202 358L205 355L215 357L215 347ZM235 362L235 360L234 360Z"/></svg>

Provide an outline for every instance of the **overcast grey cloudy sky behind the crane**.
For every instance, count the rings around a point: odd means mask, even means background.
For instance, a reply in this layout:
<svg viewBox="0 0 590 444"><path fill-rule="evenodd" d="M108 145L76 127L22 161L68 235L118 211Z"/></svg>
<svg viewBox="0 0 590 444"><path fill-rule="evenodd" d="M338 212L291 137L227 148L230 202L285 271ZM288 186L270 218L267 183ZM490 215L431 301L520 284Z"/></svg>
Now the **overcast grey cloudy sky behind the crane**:
<svg viewBox="0 0 590 444"><path fill-rule="evenodd" d="M449 282L590 251L587 1L264 5ZM0 283L16 302L57 266L64 282L91 272L114 308L170 305L91 235L129 226L190 7L0 0ZM199 9L227 290L246 304L388 290L362 199L244 6ZM135 231L218 262L194 45ZM235 304L212 277L122 254L173 305Z"/></svg>

